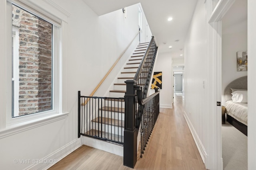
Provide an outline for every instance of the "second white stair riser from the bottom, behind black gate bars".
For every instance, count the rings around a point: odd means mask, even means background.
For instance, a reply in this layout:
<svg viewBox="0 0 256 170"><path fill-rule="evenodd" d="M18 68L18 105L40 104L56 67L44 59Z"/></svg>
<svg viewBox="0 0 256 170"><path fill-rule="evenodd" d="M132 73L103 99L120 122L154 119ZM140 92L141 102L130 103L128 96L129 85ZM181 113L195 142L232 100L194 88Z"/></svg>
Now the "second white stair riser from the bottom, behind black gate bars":
<svg viewBox="0 0 256 170"><path fill-rule="evenodd" d="M96 127L95 127L96 125ZM102 127L101 127L101 123L96 123L93 122L93 129L96 129L96 130L99 130L99 131L102 131L102 132L108 132L108 133L113 133L113 134L116 134L116 135L121 135L124 136L124 127L117 127L117 126L114 126L114 125L105 125L105 124L102 124Z"/></svg>

